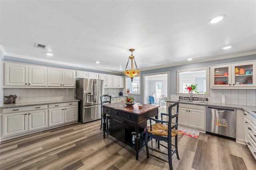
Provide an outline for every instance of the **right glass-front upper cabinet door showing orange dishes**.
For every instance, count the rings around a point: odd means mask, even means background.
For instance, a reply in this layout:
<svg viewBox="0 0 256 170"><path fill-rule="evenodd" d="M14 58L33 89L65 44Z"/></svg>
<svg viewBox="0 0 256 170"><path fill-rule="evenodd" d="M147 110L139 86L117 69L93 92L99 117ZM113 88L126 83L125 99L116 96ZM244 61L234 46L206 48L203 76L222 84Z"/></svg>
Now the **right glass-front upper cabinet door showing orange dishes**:
<svg viewBox="0 0 256 170"><path fill-rule="evenodd" d="M232 64L232 86L233 87L256 87L256 62L244 62Z"/></svg>

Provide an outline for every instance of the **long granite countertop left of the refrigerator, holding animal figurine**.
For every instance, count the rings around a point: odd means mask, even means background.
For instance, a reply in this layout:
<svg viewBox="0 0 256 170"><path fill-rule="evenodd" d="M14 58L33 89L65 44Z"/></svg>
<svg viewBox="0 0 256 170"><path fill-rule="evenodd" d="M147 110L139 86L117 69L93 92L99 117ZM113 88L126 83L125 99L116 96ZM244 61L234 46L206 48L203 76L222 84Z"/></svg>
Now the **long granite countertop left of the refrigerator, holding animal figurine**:
<svg viewBox="0 0 256 170"><path fill-rule="evenodd" d="M12 107L25 107L25 106L36 106L44 104L57 104L57 103L68 103L68 102L79 102L78 99L63 99L63 100L48 100L48 101L38 101L38 102L21 102L16 104L2 104L0 109L12 108Z"/></svg>

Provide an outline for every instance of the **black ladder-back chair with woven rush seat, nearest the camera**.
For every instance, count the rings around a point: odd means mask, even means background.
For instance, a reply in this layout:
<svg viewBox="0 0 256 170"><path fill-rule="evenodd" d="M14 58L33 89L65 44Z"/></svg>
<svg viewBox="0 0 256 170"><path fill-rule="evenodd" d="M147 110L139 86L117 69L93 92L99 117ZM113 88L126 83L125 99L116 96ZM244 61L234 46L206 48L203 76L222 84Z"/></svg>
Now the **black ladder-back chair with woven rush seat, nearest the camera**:
<svg viewBox="0 0 256 170"><path fill-rule="evenodd" d="M172 107L176 108L176 114L172 115ZM176 153L176 156L178 159L178 110L179 110L179 102L176 102L175 104L169 105L168 107L168 114L161 113L161 120L154 119L153 117L150 117L150 129L148 127L146 128L146 137L145 137L145 144L146 144L146 152L147 152L147 158L150 156L153 156L155 158L158 158L160 160L163 160L165 162L169 163L169 168L172 170L172 155ZM168 115L169 119L168 121L163 121L163 115ZM175 124L172 126L171 122L172 119L176 117ZM151 124L151 121L155 121L155 124ZM167 124L166 124L167 123ZM152 139L156 139L158 141L158 149L160 148L160 145L165 147L168 150L168 153L161 152L159 150L153 149L152 147L152 140L151 140L151 148L148 147L148 137L152 137ZM172 145L172 137L175 137L175 145ZM167 147L160 144L160 141L164 141L167 143ZM172 150L172 146L175 147L174 150ZM153 154L149 154L148 149L151 149L152 151L160 152L162 154L168 155L168 161L164 160L162 158L159 158Z"/></svg>

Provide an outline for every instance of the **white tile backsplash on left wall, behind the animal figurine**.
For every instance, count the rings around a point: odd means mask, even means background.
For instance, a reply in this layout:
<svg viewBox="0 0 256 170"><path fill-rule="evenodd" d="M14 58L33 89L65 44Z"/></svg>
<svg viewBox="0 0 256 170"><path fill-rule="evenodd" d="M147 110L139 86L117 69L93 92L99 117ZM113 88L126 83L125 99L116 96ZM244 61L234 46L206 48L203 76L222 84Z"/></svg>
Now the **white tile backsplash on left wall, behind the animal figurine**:
<svg viewBox="0 0 256 170"><path fill-rule="evenodd" d="M3 93L4 96L16 94L16 103L75 98L74 88L3 88Z"/></svg>

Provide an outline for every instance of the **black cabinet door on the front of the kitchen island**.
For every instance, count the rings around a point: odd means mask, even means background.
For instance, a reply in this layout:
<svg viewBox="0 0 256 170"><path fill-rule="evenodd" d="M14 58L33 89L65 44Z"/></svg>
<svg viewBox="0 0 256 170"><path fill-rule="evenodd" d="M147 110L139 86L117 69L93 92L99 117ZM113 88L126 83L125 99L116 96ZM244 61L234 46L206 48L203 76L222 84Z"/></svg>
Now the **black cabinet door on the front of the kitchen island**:
<svg viewBox="0 0 256 170"><path fill-rule="evenodd" d="M110 134L114 137L123 140L123 121L121 119L111 117Z"/></svg>

